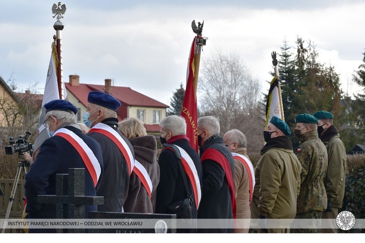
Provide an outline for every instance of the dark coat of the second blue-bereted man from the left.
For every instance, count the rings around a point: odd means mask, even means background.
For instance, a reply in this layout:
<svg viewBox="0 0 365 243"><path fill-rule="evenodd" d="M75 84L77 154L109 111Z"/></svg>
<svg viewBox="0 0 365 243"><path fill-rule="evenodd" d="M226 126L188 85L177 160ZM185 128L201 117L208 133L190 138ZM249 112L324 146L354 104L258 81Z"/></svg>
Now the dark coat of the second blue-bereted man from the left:
<svg viewBox="0 0 365 243"><path fill-rule="evenodd" d="M109 125L126 141L134 157L133 147L119 131L118 119L107 118L102 123ZM129 172L127 161L117 145L107 136L100 133L88 133L89 137L97 140L101 145L104 161L104 174L98 196L104 196L104 205L98 206L98 211L122 212L123 204L128 195Z"/></svg>

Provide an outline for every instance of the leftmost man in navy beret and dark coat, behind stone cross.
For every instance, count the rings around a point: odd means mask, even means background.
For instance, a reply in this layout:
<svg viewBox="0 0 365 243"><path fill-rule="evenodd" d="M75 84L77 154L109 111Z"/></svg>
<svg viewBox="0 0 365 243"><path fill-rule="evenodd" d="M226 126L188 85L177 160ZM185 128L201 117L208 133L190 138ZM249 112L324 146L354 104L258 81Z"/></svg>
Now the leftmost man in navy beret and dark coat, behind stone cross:
<svg viewBox="0 0 365 243"><path fill-rule="evenodd" d="M66 100L54 100L44 105L50 137L40 146L39 153L25 175L25 211L29 219L55 219L55 204L37 203L38 195L56 194L56 174L68 174L69 168L85 169L85 195L96 196L103 173L100 144L84 135L75 124L77 108ZM87 205L89 211L97 207ZM55 232L55 229L29 229L34 232Z"/></svg>

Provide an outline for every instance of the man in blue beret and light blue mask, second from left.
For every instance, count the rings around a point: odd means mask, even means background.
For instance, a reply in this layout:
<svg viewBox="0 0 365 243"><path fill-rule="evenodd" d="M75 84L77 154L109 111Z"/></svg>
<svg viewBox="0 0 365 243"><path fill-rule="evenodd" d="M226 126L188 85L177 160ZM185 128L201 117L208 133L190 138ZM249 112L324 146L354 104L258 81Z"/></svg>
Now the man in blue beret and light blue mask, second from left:
<svg viewBox="0 0 365 243"><path fill-rule="evenodd" d="M129 176L134 167L133 147L118 130L117 110L120 105L108 93L91 91L84 113L84 123L91 127L87 135L97 140L103 151L105 179L96 193L104 196L104 205L99 205L98 211L124 211Z"/></svg>

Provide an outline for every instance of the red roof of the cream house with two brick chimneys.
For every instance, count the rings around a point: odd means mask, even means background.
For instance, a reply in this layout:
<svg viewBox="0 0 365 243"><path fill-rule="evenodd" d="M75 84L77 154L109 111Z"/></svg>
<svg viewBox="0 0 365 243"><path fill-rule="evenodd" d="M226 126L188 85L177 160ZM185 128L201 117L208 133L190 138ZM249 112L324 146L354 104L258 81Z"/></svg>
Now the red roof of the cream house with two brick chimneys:
<svg viewBox="0 0 365 243"><path fill-rule="evenodd" d="M88 104L88 94L90 91L104 92L104 85L88 85L79 84L72 86L70 83L65 83L66 88L85 106ZM143 107L161 107L168 108L169 106L156 101L148 96L134 91L130 87L111 87L111 95L118 99L121 103L128 106L143 106ZM160 130L159 130L160 131Z"/></svg>

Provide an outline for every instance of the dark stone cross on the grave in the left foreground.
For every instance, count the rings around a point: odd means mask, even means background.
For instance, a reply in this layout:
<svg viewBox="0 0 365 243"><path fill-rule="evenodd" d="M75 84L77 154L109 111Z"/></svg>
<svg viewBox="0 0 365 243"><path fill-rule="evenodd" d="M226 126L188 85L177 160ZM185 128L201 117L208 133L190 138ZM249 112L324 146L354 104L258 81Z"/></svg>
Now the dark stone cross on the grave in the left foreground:
<svg viewBox="0 0 365 243"><path fill-rule="evenodd" d="M85 196L85 169L70 168L69 174L56 175L56 195L38 195L38 203L55 204L57 219L85 218L85 205L102 205L104 197ZM57 233L65 232L56 229ZM85 229L69 229L71 233L82 233Z"/></svg>

